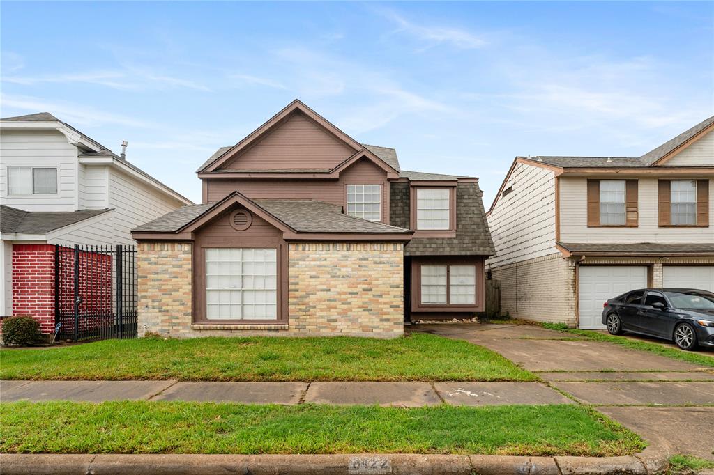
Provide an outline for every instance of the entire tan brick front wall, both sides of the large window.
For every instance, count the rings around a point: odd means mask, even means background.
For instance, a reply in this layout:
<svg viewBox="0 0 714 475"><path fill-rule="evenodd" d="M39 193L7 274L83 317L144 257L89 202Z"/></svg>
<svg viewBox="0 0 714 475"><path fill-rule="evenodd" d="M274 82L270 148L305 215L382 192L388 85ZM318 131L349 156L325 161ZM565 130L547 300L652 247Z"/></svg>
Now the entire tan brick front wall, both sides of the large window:
<svg viewBox="0 0 714 475"><path fill-rule="evenodd" d="M144 331L169 337L391 338L403 334L401 244L289 245L288 325L193 325L192 245L140 243L138 251L139 335Z"/></svg>

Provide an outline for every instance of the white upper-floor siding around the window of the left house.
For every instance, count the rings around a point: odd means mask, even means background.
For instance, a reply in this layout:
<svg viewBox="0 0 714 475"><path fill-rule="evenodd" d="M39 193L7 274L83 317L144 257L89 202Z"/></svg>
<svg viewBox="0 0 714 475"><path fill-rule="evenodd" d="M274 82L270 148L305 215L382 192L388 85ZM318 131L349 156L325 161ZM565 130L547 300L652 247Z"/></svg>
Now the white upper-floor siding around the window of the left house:
<svg viewBox="0 0 714 475"><path fill-rule="evenodd" d="M74 211L77 205L77 148L54 131L0 131L0 203L26 211ZM7 168L57 167L57 195L8 196Z"/></svg>

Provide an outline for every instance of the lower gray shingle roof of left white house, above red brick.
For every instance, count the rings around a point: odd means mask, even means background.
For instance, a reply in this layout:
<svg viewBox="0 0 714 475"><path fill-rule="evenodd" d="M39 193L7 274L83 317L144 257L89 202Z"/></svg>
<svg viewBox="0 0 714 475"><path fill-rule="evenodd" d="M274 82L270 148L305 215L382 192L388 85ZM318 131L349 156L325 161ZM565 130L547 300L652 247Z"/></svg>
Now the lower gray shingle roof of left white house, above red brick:
<svg viewBox="0 0 714 475"><path fill-rule="evenodd" d="M44 234L107 211L109 208L61 212L24 211L0 205L0 230L9 234Z"/></svg>

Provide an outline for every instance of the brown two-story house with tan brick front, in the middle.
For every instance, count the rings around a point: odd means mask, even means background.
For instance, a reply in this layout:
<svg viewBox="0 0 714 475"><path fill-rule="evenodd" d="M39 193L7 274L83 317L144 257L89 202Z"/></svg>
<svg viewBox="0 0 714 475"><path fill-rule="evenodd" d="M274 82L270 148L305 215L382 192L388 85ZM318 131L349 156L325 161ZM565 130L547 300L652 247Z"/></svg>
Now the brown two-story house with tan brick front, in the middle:
<svg viewBox="0 0 714 475"><path fill-rule="evenodd" d="M401 170L300 101L198 177L201 205L134 229L140 333L395 337L483 310L476 178Z"/></svg>

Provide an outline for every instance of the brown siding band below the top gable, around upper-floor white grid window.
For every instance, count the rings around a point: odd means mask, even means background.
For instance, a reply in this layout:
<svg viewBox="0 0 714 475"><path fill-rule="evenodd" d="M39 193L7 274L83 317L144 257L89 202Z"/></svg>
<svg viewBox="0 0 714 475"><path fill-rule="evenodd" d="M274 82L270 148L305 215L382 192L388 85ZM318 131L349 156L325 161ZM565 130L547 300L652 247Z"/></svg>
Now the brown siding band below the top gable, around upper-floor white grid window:
<svg viewBox="0 0 714 475"><path fill-rule="evenodd" d="M206 186L205 202L222 200L238 191L253 199L303 199L320 200L338 206L346 206L348 184L382 185L382 222L389 222L389 183L387 174L369 160L358 160L346 168L339 180L288 180L255 178L211 178L203 180Z"/></svg>

